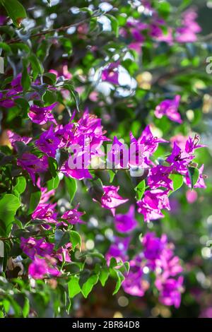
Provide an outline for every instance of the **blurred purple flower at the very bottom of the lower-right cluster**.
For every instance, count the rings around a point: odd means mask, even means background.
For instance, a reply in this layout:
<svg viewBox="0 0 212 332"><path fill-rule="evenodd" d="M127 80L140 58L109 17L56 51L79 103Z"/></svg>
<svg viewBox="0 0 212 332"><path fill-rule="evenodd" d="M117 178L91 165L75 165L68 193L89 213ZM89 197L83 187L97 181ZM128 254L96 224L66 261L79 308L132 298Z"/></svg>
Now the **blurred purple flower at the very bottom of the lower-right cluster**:
<svg viewBox="0 0 212 332"><path fill-rule="evenodd" d="M173 278L160 280L160 278L158 278L155 281L155 286L158 288L160 292L159 296L160 302L167 306L174 305L175 308L179 308L181 302L181 293L183 289L182 284L183 284L182 276L179 276L177 280Z"/></svg>

